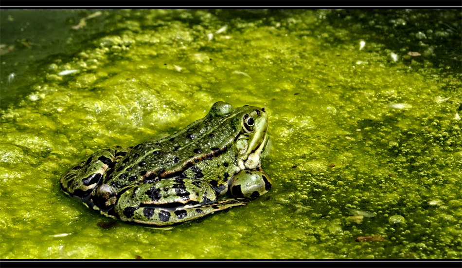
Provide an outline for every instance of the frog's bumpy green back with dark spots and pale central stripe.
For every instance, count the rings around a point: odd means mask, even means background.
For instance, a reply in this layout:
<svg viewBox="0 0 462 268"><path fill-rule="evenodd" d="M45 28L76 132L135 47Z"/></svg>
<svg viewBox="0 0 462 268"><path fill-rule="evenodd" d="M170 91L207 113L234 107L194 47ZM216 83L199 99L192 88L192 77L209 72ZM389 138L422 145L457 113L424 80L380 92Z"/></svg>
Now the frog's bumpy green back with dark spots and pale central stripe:
<svg viewBox="0 0 462 268"><path fill-rule="evenodd" d="M141 181L174 177L203 160L222 155L231 149L239 134L237 114L236 109L226 114L211 110L176 134L135 146L114 164L113 172L105 175L105 183L123 188ZM125 178L128 179L121 183L120 179Z"/></svg>

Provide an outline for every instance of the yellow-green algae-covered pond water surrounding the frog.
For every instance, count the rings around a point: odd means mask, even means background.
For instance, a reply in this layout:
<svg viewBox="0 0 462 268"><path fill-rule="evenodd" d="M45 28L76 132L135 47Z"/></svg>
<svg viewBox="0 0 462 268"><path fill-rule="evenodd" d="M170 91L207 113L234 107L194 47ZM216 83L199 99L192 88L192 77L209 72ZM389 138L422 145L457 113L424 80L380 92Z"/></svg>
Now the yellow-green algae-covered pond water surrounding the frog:
<svg viewBox="0 0 462 268"><path fill-rule="evenodd" d="M0 258L462 258L461 10L0 13ZM220 100L267 107L247 207L151 229L61 191Z"/></svg>

